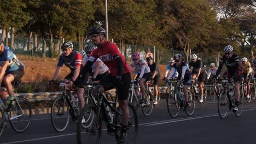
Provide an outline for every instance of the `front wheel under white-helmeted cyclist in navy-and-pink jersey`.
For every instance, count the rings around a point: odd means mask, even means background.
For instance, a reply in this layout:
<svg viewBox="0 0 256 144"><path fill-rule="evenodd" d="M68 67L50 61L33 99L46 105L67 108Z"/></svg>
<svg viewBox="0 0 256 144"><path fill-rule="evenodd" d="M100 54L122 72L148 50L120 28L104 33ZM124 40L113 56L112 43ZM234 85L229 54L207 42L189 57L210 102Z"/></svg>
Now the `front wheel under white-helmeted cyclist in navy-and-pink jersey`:
<svg viewBox="0 0 256 144"><path fill-rule="evenodd" d="M169 92L167 97L167 110L171 117L177 117L179 113L179 101L175 90Z"/></svg>

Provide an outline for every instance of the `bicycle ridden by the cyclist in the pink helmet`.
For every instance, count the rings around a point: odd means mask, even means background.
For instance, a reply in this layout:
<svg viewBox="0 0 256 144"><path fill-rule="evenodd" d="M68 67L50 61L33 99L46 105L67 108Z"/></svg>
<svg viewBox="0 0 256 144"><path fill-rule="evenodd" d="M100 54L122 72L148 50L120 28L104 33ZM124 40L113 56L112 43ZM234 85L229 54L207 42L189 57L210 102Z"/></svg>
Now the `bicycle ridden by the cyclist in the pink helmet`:
<svg viewBox="0 0 256 144"><path fill-rule="evenodd" d="M152 99L153 95L149 92L149 90L146 90L146 103L139 103L139 100L142 98L141 92L140 92L140 86L137 81L131 81L131 87L129 88L129 97L128 100L135 106L136 110L141 109L143 115L149 116L152 113L153 105L150 103L149 99Z"/></svg>

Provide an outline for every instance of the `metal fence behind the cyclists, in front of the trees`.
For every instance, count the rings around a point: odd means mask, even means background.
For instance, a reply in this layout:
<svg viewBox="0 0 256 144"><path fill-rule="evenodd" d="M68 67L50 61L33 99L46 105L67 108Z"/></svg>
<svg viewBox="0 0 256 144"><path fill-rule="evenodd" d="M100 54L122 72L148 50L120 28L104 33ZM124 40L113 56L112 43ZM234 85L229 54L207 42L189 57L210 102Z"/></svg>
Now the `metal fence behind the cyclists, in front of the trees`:
<svg viewBox="0 0 256 144"><path fill-rule="evenodd" d="M50 56L50 39L44 39L46 44L46 51L45 56ZM8 46L10 46L10 39L8 40ZM59 56L61 54L60 46L63 43L63 41L66 41L65 39L57 40L53 39L53 46L54 46L54 54L55 57ZM90 44L88 41L84 41L83 46ZM73 41L74 50L79 51L79 43L77 41ZM186 62L189 62L190 59L187 57L184 53L184 51L177 51L173 49L166 49L165 47L155 47L155 46L139 46L139 45L129 45L129 44L123 44L119 46L119 49L123 53L126 61L131 61L131 55L133 52L140 52L141 58L146 59L146 54L150 53L153 55L154 61L158 64L168 64L168 61L170 60L173 55L176 53L180 53L184 60ZM42 56L43 55L43 47L44 47L44 41L42 38L37 39L37 44L35 44L34 38L30 39L27 37L15 37L14 39L14 47L13 50L15 53L19 53L22 55L31 55L31 56ZM32 49L33 48L33 49ZM189 56L191 53L194 53L193 51L189 52ZM206 53L206 52L197 52L196 55L202 59L203 64L206 65L208 68L210 63L216 63L218 65L218 52L217 53ZM221 56L221 55L220 55Z"/></svg>

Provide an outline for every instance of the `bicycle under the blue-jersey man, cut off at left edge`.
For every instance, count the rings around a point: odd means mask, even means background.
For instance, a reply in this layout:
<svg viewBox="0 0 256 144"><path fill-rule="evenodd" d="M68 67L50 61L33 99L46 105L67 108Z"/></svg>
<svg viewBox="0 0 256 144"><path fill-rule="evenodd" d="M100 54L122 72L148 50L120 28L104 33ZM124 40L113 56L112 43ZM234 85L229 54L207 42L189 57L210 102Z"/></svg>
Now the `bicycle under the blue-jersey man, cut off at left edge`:
<svg viewBox="0 0 256 144"><path fill-rule="evenodd" d="M4 127L10 123L11 127L17 133L25 131L31 122L31 106L27 99L24 97L16 97L16 89L20 86L21 80L13 82L14 89L14 107L9 111L5 112L4 107L0 106L0 136L3 132ZM1 91L7 91L6 88L1 88Z"/></svg>

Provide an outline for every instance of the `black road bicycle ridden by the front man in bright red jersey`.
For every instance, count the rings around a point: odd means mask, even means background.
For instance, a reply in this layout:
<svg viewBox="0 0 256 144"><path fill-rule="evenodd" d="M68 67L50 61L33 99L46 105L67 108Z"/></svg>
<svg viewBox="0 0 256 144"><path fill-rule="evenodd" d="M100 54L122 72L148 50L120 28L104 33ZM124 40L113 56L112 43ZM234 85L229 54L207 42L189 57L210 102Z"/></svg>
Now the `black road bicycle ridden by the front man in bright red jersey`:
<svg viewBox="0 0 256 144"><path fill-rule="evenodd" d="M85 83L96 87L97 104L88 104L81 111L77 122L77 142L80 143L100 143L102 137L102 119L106 123L108 135L115 136L119 140L122 127L122 111L118 106L118 94L114 101L108 100L104 93L101 93L102 85L113 85L113 83ZM129 122L127 125L127 137L125 143L135 143L138 133L138 117L135 106L128 101ZM86 123L82 123L86 119ZM88 127L84 128L84 125Z"/></svg>

